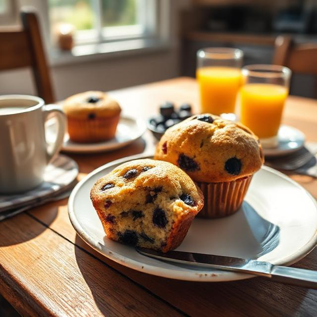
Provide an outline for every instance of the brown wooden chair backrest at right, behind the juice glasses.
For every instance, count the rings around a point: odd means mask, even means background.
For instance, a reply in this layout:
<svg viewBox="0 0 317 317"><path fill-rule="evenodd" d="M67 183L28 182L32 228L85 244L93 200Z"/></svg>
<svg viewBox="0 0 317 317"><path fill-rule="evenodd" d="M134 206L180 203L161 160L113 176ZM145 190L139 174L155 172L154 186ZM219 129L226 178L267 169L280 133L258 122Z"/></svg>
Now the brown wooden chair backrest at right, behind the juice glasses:
<svg viewBox="0 0 317 317"><path fill-rule="evenodd" d="M275 40L273 64L290 68L294 73L317 75L317 44L295 45L289 36Z"/></svg>

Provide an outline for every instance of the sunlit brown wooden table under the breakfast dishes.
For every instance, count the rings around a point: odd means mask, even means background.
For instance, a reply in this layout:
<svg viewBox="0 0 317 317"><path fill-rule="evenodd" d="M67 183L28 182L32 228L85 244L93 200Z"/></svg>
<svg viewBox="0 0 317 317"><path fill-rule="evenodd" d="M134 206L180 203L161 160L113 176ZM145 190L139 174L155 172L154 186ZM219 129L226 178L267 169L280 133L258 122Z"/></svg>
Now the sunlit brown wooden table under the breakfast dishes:
<svg viewBox="0 0 317 317"><path fill-rule="evenodd" d="M170 100L198 106L196 82L177 78L111 92L127 114L147 118ZM317 141L317 101L289 97L284 121ZM128 147L71 155L79 178L114 159L153 151L147 132ZM315 198L317 180L291 175ZM317 269L317 249L294 266ZM84 243L67 199L0 222L0 293L23 316L317 316L317 291L264 278L236 282L178 281L116 264Z"/></svg>

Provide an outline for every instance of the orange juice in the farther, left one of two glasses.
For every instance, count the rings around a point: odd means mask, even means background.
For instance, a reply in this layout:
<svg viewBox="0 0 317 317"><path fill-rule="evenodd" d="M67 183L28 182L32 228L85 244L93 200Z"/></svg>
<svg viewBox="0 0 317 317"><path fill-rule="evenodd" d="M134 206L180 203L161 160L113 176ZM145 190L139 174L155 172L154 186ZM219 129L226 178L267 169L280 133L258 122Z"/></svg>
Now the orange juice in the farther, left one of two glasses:
<svg viewBox="0 0 317 317"><path fill-rule="evenodd" d="M233 67L201 67L197 69L202 112L234 113L241 84L241 72Z"/></svg>

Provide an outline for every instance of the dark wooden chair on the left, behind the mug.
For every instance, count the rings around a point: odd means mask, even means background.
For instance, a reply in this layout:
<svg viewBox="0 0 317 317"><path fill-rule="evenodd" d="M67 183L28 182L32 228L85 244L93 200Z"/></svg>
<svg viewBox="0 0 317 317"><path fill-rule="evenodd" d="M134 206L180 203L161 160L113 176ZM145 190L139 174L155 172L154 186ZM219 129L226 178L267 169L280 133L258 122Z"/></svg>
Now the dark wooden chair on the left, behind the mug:
<svg viewBox="0 0 317 317"><path fill-rule="evenodd" d="M22 30L0 31L0 71L31 67L38 96L54 102L50 70L41 39L39 21L32 11L22 11Z"/></svg>

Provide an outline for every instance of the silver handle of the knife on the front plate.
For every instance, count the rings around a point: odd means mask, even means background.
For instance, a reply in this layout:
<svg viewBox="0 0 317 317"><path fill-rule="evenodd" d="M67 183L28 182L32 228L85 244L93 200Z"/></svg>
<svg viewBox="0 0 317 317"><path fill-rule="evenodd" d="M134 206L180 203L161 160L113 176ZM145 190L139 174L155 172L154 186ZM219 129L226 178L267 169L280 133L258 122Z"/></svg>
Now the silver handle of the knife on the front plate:
<svg viewBox="0 0 317 317"><path fill-rule="evenodd" d="M317 271L310 269L274 265L271 269L271 280L317 289Z"/></svg>

